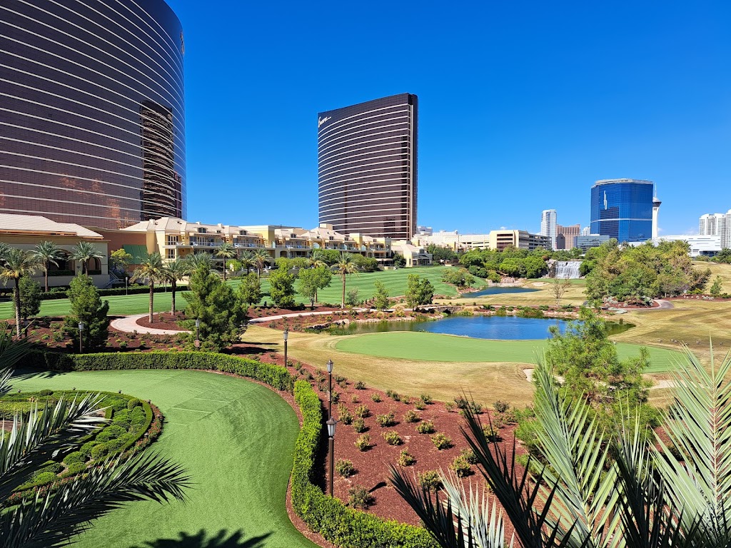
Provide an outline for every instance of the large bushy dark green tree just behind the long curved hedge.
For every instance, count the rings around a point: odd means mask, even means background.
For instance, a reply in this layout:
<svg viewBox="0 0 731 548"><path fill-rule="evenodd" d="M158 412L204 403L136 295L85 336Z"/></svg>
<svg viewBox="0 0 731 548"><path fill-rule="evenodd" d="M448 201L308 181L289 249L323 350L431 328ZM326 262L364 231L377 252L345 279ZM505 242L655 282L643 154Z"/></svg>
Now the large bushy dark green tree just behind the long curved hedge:
<svg viewBox="0 0 731 548"><path fill-rule="evenodd" d="M199 338L202 348L219 351L237 343L246 330L246 312L231 286L221 281L205 264L190 276L190 291L183 293L188 302L185 322L195 338L195 320L200 321Z"/></svg>

